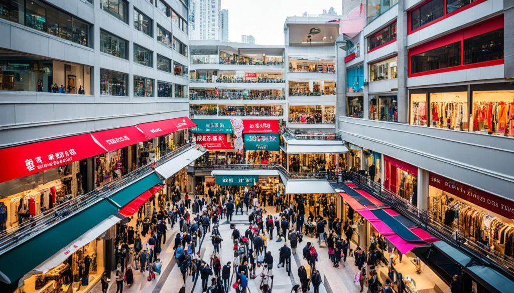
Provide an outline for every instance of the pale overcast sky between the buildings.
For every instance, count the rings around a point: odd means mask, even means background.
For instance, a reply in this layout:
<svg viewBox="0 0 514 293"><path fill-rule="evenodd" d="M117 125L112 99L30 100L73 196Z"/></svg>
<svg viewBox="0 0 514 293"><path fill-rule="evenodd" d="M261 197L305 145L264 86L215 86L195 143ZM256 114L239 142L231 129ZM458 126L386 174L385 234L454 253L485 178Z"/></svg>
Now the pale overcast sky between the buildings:
<svg viewBox="0 0 514 293"><path fill-rule="evenodd" d="M228 9L228 39L241 42L242 34L255 37L255 44L284 45L284 22L287 16L321 14L334 7L341 13L341 0L222 0Z"/></svg>

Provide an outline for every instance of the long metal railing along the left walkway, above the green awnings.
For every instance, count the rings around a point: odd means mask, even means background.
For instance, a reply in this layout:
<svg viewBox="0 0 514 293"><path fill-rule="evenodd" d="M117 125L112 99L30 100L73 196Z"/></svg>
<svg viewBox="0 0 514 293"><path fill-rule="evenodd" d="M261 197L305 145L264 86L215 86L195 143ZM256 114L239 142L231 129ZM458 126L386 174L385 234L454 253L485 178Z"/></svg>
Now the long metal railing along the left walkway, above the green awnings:
<svg viewBox="0 0 514 293"><path fill-rule="evenodd" d="M0 255L17 244L20 244L43 230L46 230L50 226L53 226L59 221L83 210L96 201L106 198L115 191L126 187L127 183L133 182L144 175L152 173L153 167L167 162L171 157L174 157L176 154L181 153L191 146L193 146L193 143L188 143L175 150L170 150L169 152L161 155L161 157L156 160L156 164L154 166L152 166L152 163L145 165L95 190L79 195L70 201L48 209L29 221L7 229L2 233L2 235L0 235Z"/></svg>

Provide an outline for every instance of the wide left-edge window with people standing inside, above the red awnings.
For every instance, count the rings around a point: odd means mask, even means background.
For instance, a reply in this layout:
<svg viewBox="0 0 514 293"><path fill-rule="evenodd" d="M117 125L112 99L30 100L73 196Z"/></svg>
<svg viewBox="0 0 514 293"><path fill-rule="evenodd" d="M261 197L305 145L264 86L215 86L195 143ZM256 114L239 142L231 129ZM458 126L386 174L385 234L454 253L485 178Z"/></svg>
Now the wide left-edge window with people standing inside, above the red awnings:
<svg viewBox="0 0 514 293"><path fill-rule="evenodd" d="M91 67L0 50L0 90L91 94Z"/></svg>

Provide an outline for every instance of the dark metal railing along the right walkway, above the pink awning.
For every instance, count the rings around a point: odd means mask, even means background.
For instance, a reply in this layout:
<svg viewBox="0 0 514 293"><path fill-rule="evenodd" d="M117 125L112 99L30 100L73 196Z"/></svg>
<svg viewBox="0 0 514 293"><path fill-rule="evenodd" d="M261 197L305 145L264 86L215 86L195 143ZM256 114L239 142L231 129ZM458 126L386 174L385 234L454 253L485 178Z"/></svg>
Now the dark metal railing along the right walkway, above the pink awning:
<svg viewBox="0 0 514 293"><path fill-rule="evenodd" d="M384 188L381 184L362 176L359 173L348 171L346 178L350 178L361 189L364 189L374 197L381 200L399 211L403 216L414 222L419 227L424 228L447 243L452 243L461 250L468 252L480 264L493 266L499 272L507 274L509 278L514 278L514 259L494 250L493 248L475 241L460 231L453 231L444 225L427 211L420 210L413 206L408 200L398 194Z"/></svg>

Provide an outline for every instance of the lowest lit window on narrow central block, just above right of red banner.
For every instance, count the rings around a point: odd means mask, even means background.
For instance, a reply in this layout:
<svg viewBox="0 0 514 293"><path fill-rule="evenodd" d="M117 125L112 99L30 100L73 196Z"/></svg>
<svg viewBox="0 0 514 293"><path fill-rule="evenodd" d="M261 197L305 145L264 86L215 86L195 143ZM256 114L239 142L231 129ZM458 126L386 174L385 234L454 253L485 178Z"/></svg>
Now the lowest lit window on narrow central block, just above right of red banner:
<svg viewBox="0 0 514 293"><path fill-rule="evenodd" d="M289 123L335 124L335 107L326 105L289 106Z"/></svg>

